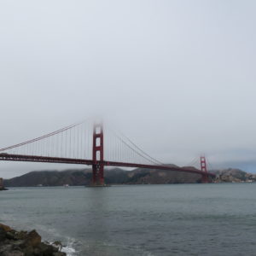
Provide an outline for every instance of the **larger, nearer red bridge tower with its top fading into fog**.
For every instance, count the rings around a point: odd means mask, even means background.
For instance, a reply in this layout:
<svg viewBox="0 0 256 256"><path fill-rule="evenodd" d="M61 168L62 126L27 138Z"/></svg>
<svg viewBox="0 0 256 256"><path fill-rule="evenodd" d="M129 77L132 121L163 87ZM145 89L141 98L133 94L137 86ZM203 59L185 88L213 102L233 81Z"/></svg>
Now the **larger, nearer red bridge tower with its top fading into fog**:
<svg viewBox="0 0 256 256"><path fill-rule="evenodd" d="M102 123L95 124L93 127L92 142L92 185L104 185L104 136Z"/></svg>

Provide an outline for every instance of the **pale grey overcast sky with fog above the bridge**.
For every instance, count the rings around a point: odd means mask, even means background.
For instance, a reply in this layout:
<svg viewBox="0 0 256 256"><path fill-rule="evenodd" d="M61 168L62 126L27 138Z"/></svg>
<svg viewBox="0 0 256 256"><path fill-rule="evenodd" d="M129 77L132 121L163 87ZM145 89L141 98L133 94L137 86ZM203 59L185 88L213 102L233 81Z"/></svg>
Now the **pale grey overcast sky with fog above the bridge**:
<svg viewBox="0 0 256 256"><path fill-rule="evenodd" d="M256 172L255 9L1 0L0 148L101 114L161 161L204 153L214 167ZM0 177L70 167L0 164Z"/></svg>

